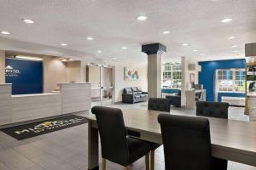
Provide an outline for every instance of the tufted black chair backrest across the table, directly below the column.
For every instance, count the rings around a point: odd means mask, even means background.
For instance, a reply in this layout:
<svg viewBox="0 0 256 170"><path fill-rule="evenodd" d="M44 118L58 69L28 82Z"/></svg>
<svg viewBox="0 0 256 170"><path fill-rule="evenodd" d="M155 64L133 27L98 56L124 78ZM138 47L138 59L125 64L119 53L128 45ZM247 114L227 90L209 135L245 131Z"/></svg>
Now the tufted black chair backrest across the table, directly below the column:
<svg viewBox="0 0 256 170"><path fill-rule="evenodd" d="M150 98L148 100L148 110L170 112L171 99Z"/></svg>

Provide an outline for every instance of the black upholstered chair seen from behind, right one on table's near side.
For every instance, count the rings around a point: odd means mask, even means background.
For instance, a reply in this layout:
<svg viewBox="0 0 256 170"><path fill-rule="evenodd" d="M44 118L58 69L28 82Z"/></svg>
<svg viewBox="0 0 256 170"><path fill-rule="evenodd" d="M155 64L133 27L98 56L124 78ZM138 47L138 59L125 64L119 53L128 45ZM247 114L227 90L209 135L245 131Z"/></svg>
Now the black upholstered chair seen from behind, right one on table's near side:
<svg viewBox="0 0 256 170"><path fill-rule="evenodd" d="M201 117L160 114L166 170L226 170L212 157L209 121Z"/></svg>

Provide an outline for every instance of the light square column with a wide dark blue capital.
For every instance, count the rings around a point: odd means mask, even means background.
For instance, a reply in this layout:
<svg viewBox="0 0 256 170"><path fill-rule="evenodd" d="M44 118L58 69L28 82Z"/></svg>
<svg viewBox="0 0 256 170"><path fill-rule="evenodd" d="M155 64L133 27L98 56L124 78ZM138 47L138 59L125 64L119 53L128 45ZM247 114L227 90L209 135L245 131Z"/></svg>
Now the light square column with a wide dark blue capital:
<svg viewBox="0 0 256 170"><path fill-rule="evenodd" d="M148 98L161 98L161 54L166 52L166 46L146 44L142 52L148 54Z"/></svg>

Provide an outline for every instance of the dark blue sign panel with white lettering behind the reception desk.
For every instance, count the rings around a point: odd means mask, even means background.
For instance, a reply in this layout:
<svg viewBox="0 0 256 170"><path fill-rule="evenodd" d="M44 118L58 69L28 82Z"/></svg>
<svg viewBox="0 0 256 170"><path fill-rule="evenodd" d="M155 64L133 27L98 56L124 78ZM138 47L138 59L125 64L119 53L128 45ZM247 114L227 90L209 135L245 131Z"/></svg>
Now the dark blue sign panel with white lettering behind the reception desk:
<svg viewBox="0 0 256 170"><path fill-rule="evenodd" d="M12 94L43 93L43 62L5 59L5 82L12 83Z"/></svg>

